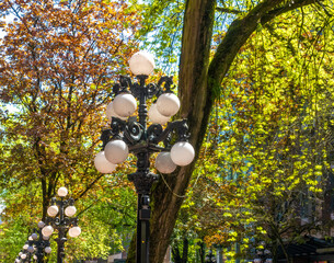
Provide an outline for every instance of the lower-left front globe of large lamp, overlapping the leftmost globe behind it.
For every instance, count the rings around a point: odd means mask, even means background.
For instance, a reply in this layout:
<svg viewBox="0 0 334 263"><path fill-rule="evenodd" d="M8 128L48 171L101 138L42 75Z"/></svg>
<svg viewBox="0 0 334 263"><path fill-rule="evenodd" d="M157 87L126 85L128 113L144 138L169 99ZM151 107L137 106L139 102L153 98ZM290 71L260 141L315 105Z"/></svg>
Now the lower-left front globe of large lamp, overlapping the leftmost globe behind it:
<svg viewBox="0 0 334 263"><path fill-rule="evenodd" d="M104 147L104 156L111 163L124 162L129 155L129 149L123 140L112 140Z"/></svg>

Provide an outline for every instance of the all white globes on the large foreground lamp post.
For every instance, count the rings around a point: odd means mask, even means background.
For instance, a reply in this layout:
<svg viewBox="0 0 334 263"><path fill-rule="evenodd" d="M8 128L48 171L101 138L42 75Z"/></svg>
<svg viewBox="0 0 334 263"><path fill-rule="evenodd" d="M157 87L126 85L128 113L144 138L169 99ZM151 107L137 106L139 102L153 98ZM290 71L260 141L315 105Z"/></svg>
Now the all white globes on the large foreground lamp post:
<svg viewBox="0 0 334 263"><path fill-rule="evenodd" d="M130 71L135 76L149 76L154 69L153 57L145 52L136 53L129 60ZM107 105L106 115L108 119L117 117L126 121L137 110L137 101L130 93L120 93ZM180 100L173 93L162 93L149 111L149 119L153 124L164 125L180 110ZM112 173L118 163L124 162L129 155L128 146L120 139L107 142L103 151L100 151L94 164L101 173ZM172 173L176 165L185 167L195 157L193 146L187 141L178 141L171 151L162 151L157 156L156 168L161 173Z"/></svg>

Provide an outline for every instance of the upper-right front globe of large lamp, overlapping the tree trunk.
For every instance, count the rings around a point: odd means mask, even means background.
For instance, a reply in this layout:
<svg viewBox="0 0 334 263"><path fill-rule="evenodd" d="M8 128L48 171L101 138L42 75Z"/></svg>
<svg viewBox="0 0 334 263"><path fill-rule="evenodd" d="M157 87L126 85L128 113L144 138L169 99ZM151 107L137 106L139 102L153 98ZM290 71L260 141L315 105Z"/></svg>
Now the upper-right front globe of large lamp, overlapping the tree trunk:
<svg viewBox="0 0 334 263"><path fill-rule="evenodd" d="M180 110L180 100L173 93L163 93L157 100L157 108L163 116L173 116Z"/></svg>

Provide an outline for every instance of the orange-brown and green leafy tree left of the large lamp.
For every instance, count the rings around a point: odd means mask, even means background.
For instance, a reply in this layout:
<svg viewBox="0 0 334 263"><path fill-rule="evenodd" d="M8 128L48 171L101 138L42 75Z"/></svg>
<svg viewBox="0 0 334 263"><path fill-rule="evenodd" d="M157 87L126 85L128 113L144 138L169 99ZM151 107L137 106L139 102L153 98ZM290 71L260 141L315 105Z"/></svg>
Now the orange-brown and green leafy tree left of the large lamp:
<svg viewBox="0 0 334 263"><path fill-rule="evenodd" d="M103 176L92 162L107 124L101 113L111 81L137 47L139 18L125 2L100 0L5 0L0 15L1 218L10 227L28 214L24 224L32 228L61 185L76 199L91 191L79 213L102 192L122 188L123 181ZM27 229L22 232L27 237Z"/></svg>

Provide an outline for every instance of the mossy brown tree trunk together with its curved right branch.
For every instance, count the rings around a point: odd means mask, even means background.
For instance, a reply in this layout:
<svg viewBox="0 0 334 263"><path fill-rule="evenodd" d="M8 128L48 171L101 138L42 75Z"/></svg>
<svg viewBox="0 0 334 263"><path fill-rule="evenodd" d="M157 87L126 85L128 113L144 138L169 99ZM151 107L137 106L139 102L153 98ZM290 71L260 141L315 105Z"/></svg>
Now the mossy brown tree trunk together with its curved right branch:
<svg viewBox="0 0 334 263"><path fill-rule="evenodd" d="M276 15L313 2L314 0L299 0L290 3L284 0L260 2L243 19L231 23L210 60L216 0L186 1L178 95L182 105L181 117L188 119L191 144L197 155L205 137L214 101L221 89L220 83L242 45L260 23L267 23ZM163 262L193 170L194 162L164 176L169 186L160 181L152 191L150 238L150 262L152 263ZM135 260L129 256L127 262L135 262Z"/></svg>

